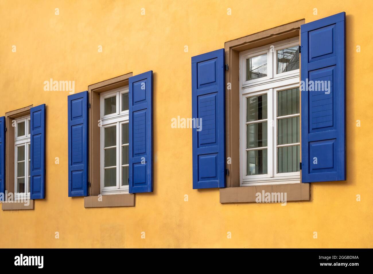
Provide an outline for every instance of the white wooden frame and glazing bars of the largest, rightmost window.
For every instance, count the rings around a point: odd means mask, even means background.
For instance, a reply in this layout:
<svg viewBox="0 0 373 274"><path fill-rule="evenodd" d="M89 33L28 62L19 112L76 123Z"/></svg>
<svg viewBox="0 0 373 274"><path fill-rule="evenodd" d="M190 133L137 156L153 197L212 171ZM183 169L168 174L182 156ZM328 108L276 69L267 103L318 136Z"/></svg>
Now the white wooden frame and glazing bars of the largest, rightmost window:
<svg viewBox="0 0 373 274"><path fill-rule="evenodd" d="M273 185L286 183L300 183L300 172L277 173L277 94L278 91L296 88L300 86L300 69L289 72L277 73L277 51L288 47L299 45L299 38L291 38L273 44L265 45L259 48L242 51L239 54L240 70L240 186L250 185ZM247 59L267 53L267 77L246 81L247 77ZM267 94L267 174L246 175L247 150L246 149L246 100L248 97ZM300 114L289 115L300 116ZM285 117L285 116L282 116ZM280 118L280 117L279 117ZM258 120L259 121L259 120ZM255 121L253 123L257 123ZM283 146L300 145L286 144ZM254 148L260 149L260 148Z"/></svg>

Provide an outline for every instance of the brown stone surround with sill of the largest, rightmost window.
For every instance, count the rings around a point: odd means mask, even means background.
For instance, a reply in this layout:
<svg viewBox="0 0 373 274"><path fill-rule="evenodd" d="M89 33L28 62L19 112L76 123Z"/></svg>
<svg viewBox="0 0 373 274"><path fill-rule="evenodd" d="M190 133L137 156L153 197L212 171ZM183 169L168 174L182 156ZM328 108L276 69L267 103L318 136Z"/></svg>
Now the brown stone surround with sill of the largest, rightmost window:
<svg viewBox="0 0 373 274"><path fill-rule="evenodd" d="M241 37L232 41L225 42L225 60L228 64L229 70L226 71L226 83L231 83L231 90L226 90L226 157L231 157L231 164L227 165L229 175L226 176L227 188L236 188L240 186L239 177L239 53L241 51L249 50L251 48L261 47L263 45L272 44L278 41L286 40L293 37L300 36L300 26L305 23L304 19L281 25L275 28L267 29L265 31L257 32L245 37ZM291 185L291 184L290 184ZM296 185L296 184L294 184ZM297 188L295 192L300 188ZM271 186L271 185L270 185ZM306 187L307 186L307 187ZM267 187L268 186L263 186ZM262 186L256 186L257 190L262 189ZM253 188L253 186L240 187L239 189L229 190L220 189L220 202L251 202L252 198L248 195L251 191L246 188ZM287 189L292 189L289 186ZM242 189L242 190L240 190ZM308 184L303 186L302 195L292 195L292 201L309 200L310 187ZM308 189L308 190L307 190ZM238 192L242 191L239 195ZM304 191L308 191L304 193ZM299 191L297 193L300 193ZM305 194L305 195L304 195ZM228 195L228 196L227 196ZM233 195L236 198L232 198ZM250 197L249 197L250 196ZM254 199L255 201L255 199Z"/></svg>

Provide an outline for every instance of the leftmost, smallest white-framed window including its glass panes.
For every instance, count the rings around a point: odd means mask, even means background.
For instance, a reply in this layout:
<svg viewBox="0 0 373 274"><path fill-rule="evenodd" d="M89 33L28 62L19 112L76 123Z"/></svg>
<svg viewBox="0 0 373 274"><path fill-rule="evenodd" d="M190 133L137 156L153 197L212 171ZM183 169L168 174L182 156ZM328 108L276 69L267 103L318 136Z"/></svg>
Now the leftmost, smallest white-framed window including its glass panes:
<svg viewBox="0 0 373 274"><path fill-rule="evenodd" d="M15 198L30 198L30 116L15 120Z"/></svg>

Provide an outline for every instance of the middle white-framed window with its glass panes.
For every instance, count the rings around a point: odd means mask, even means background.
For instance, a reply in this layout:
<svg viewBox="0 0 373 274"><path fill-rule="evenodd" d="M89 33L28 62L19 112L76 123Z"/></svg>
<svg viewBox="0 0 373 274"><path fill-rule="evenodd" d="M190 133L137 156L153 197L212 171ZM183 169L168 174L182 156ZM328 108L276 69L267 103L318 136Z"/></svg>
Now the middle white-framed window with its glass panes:
<svg viewBox="0 0 373 274"><path fill-rule="evenodd" d="M128 86L100 94L101 194L128 193Z"/></svg>

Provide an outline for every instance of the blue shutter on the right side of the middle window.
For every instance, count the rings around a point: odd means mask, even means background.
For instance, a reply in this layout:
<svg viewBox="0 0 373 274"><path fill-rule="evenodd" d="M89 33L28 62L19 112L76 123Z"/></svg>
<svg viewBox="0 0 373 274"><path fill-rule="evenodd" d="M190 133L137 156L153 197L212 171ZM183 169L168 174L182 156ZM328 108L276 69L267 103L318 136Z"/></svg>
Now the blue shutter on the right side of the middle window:
<svg viewBox="0 0 373 274"><path fill-rule="evenodd" d="M153 192L153 71L129 78L129 193Z"/></svg>

